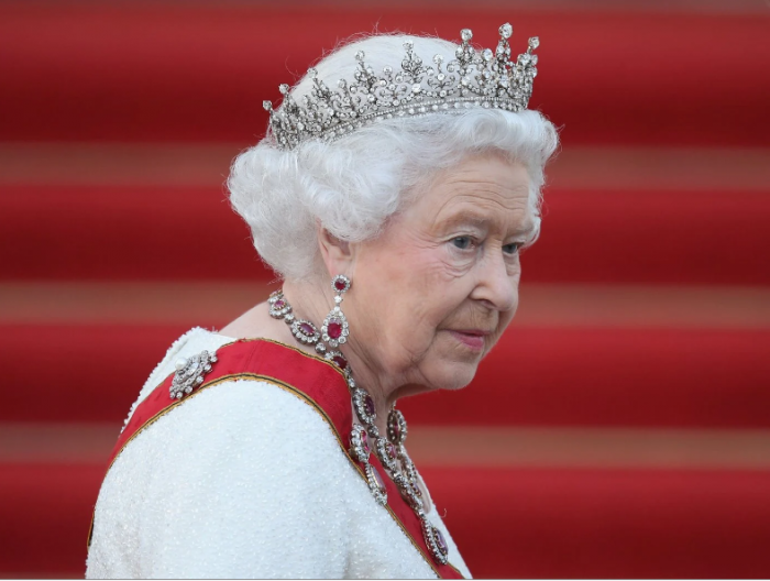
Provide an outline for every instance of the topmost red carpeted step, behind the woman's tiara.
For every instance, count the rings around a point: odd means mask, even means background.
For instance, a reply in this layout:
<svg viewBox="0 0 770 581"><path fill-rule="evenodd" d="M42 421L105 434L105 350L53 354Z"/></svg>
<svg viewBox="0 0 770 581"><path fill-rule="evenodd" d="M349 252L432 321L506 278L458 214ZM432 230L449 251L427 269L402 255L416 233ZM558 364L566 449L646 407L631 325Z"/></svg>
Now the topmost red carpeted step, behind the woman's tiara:
<svg viewBox="0 0 770 581"><path fill-rule="evenodd" d="M508 20L514 54L542 41L531 105L566 143L768 144L761 12L19 1L0 6L2 139L251 143L262 100L341 39L468 26L490 46Z"/></svg>

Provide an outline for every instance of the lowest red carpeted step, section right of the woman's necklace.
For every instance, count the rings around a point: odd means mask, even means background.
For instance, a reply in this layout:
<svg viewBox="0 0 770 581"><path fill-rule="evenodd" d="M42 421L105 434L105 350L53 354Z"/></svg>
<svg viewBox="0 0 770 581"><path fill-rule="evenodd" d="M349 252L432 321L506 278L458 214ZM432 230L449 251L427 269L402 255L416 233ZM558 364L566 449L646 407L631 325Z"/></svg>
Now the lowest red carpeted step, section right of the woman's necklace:
<svg viewBox="0 0 770 581"><path fill-rule="evenodd" d="M770 575L770 472L422 470L476 578Z"/></svg>

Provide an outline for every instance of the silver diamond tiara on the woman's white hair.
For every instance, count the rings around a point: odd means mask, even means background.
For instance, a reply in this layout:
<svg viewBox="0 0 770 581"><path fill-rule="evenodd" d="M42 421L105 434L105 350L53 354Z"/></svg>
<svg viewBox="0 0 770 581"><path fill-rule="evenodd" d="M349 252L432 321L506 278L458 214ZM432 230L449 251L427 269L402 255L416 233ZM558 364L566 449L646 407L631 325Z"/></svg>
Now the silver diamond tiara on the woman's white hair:
<svg viewBox="0 0 770 581"><path fill-rule="evenodd" d="M529 39L527 51L513 63L508 44L513 32L510 24L503 24L495 51L476 51L470 44L473 32L464 29L455 58L446 65L438 54L433 65L424 65L413 41L405 41L400 67L385 66L382 74L375 74L366 65L364 52L359 51L355 80L340 79L337 90L329 89L318 72L309 68L312 87L300 99L301 105L292 97L288 85L278 87L284 100L277 109L272 101L263 101L270 112L270 130L279 149L292 150L312 139L334 141L381 119L474 107L522 111L532 95L538 62L532 51L540 41Z"/></svg>

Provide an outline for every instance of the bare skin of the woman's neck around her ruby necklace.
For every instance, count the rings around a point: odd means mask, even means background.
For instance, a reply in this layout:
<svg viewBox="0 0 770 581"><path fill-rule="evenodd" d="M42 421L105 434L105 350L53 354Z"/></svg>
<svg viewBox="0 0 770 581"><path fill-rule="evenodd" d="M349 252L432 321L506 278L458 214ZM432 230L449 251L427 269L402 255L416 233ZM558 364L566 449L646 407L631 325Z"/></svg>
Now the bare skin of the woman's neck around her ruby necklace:
<svg viewBox="0 0 770 581"><path fill-rule="evenodd" d="M295 317L309 320L316 325L319 330L323 319L334 306L334 293L331 289L329 281L300 284L287 281L284 283L284 295L292 305ZM344 300L340 307L344 313ZM348 342L340 346L338 350L341 351L348 360L356 384L366 390L370 396L372 396L377 412L375 424L380 432L384 435L387 434L386 425L388 412L395 404L402 390L399 388L398 382L393 381L393 379L388 376L386 370L377 370L367 362L365 351L355 339L355 321L350 320L349 322L351 326L350 337L348 338ZM286 332L289 333L288 330ZM316 353L312 346L301 346L301 348L309 353Z"/></svg>

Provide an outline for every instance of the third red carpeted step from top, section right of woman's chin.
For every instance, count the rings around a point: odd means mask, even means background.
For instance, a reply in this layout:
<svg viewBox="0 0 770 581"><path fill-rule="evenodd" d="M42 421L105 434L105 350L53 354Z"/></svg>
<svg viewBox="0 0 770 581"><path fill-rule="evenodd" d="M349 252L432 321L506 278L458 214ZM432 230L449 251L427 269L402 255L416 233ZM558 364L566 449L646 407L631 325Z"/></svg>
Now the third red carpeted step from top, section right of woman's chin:
<svg viewBox="0 0 770 581"><path fill-rule="evenodd" d="M429 424L768 427L770 332L510 329L466 388L404 401Z"/></svg>

